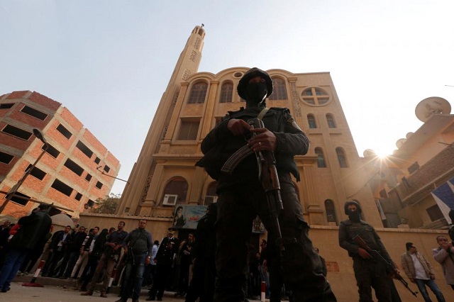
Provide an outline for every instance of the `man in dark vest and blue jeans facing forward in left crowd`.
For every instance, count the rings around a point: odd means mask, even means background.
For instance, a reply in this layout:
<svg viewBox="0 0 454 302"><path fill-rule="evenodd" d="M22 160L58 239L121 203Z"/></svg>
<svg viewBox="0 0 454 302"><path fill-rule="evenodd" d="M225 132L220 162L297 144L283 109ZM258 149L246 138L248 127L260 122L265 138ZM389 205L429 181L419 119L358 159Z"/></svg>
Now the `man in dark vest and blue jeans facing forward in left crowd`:
<svg viewBox="0 0 454 302"><path fill-rule="evenodd" d="M138 228L126 236L123 241L123 248L126 255L126 269L123 275L123 286L121 286L121 298L116 302L126 302L133 293L133 302L139 301L140 290L142 289L143 271L145 265L150 264L153 241L151 234L145 230L147 220L140 219Z"/></svg>

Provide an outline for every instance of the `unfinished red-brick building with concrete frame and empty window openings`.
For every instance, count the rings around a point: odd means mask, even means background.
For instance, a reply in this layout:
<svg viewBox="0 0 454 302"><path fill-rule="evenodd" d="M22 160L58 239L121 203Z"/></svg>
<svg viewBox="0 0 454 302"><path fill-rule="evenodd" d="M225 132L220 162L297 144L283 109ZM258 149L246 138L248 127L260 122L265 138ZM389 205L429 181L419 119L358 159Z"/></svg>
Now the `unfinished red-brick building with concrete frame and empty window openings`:
<svg viewBox="0 0 454 302"><path fill-rule="evenodd" d="M33 129L43 133L47 150ZM32 199L70 209L67 214L78 218L109 194L120 169L116 157L59 102L35 91L0 96L0 191L17 184L42 153L1 216L28 214L38 205ZM0 193L0 203L5 200ZM50 214L57 212L52 208Z"/></svg>

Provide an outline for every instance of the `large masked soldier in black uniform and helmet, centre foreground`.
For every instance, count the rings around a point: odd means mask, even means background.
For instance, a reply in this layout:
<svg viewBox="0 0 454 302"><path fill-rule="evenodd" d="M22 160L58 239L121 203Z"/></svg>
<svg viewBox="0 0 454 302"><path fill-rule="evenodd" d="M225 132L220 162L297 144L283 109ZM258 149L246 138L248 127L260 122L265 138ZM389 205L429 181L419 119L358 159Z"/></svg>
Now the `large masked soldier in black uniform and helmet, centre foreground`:
<svg viewBox="0 0 454 302"><path fill-rule="evenodd" d="M322 274L320 257L309 240L309 226L303 219L290 174L299 181L299 170L294 155L304 155L309 150L309 140L298 127L288 108L265 106L265 98L272 94L270 76L258 68L245 72L237 87L238 94L246 101L246 108L229 112L210 131L201 143L204 157L197 162L218 180L218 220L216 221L216 291L214 301L244 301L248 274L248 244L255 216L260 216L271 238L270 214L265 191L258 178L255 155L246 157L233 170L221 174L226 160L246 143L254 151L275 152L284 210L279 213L279 223L284 240L285 254L277 269L293 301L336 301L331 287ZM251 129L250 118L260 118L265 128ZM251 135L255 133L255 136ZM277 250L276 240L270 240L270 249ZM275 252L279 255L279 252ZM273 272L270 272L273 274ZM279 274L275 273L275 276ZM280 288L271 301L280 301Z"/></svg>

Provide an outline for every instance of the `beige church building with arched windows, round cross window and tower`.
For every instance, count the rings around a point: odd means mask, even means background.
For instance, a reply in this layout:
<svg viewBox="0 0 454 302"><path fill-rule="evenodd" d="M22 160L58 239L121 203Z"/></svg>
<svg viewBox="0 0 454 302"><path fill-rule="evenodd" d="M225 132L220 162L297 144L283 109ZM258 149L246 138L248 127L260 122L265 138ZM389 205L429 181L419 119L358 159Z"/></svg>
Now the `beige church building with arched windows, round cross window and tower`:
<svg viewBox="0 0 454 302"><path fill-rule="evenodd" d="M175 206L216 200L216 181L195 167L201 141L228 111L245 103L236 86L250 67L213 74L199 72L204 28L196 26L162 96L117 214L172 217ZM260 67L259 67L260 68ZM328 72L267 70L274 92L267 107L287 107L311 140L307 155L296 157L301 181L294 181L311 225L338 225L343 203L355 199L367 221L382 226L375 198Z"/></svg>

